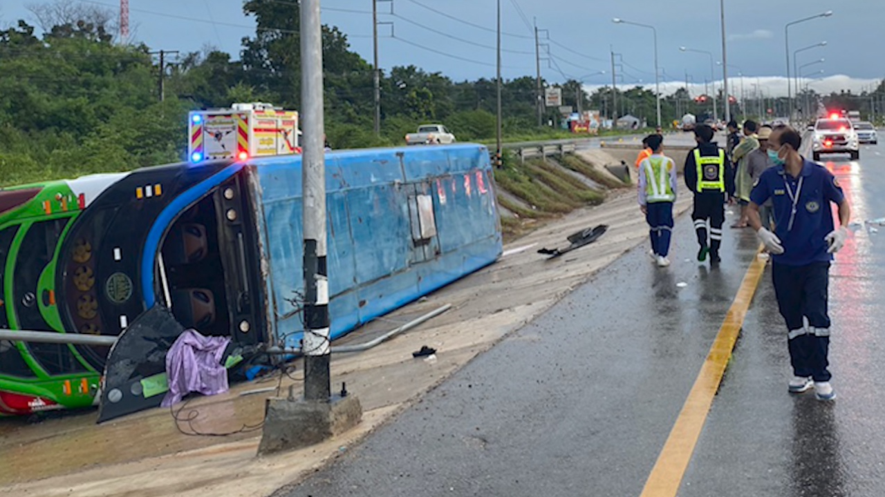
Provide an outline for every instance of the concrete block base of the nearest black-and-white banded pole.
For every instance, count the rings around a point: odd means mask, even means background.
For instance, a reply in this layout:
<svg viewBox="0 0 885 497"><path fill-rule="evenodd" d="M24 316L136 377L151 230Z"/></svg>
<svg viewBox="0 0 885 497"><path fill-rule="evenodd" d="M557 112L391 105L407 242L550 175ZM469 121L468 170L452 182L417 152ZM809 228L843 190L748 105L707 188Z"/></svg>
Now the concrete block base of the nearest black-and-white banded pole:
<svg viewBox="0 0 885 497"><path fill-rule="evenodd" d="M357 397L334 395L329 401L267 399L258 455L309 447L356 426L363 417Z"/></svg>

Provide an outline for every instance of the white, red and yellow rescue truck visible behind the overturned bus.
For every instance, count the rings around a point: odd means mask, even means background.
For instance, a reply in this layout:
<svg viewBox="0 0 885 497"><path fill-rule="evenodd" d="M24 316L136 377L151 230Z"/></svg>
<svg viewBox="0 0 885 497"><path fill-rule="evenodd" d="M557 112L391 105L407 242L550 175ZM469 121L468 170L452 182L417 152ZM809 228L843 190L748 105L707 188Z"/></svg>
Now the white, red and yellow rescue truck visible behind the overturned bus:
<svg viewBox="0 0 885 497"><path fill-rule="evenodd" d="M191 111L188 132L192 163L301 153L298 112L277 109L270 103L234 103L229 109Z"/></svg>

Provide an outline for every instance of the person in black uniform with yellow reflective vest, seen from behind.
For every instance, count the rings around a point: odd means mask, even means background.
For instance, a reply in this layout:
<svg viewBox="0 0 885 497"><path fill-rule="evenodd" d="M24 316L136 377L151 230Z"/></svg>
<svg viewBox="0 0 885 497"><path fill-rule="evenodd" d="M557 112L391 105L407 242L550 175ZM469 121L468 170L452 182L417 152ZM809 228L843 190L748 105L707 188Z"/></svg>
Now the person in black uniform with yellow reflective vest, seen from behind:
<svg viewBox="0 0 885 497"><path fill-rule="evenodd" d="M735 180L731 174L725 150L712 141L713 128L695 126L697 147L685 159L685 184L695 194L695 221L697 261L703 263L710 256L710 264L719 264L722 243L722 224L725 222L725 203L735 194ZM708 240L709 238L709 240Z"/></svg>

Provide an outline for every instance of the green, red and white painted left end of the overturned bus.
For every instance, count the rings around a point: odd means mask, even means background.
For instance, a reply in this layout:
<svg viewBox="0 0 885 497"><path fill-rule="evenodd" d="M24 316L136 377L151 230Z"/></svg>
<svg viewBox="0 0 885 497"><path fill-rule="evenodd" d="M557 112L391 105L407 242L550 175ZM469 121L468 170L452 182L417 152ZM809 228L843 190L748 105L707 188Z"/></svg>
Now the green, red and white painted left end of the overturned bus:
<svg viewBox="0 0 885 497"><path fill-rule="evenodd" d="M55 288L62 241L87 204L122 176L0 190L0 328L65 332ZM78 256L91 252L83 247ZM95 285L88 273L73 277L82 287ZM91 311L90 302L83 306ZM0 340L0 416L88 407L99 377L71 345Z"/></svg>

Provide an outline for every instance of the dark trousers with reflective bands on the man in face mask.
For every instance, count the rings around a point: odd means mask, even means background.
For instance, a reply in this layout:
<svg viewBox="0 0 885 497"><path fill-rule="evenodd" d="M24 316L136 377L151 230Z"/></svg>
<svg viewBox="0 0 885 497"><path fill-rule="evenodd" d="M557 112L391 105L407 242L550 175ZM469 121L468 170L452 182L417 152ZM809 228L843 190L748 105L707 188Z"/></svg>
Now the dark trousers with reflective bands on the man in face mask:
<svg viewBox="0 0 885 497"><path fill-rule="evenodd" d="M814 381L829 381L831 377L827 371L829 265L772 264L774 294L789 330L787 344L793 374Z"/></svg>

